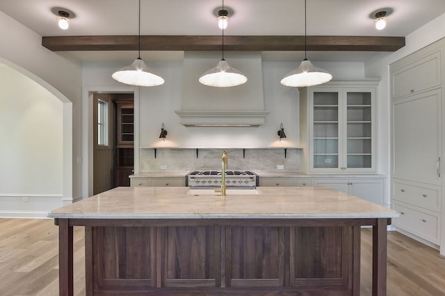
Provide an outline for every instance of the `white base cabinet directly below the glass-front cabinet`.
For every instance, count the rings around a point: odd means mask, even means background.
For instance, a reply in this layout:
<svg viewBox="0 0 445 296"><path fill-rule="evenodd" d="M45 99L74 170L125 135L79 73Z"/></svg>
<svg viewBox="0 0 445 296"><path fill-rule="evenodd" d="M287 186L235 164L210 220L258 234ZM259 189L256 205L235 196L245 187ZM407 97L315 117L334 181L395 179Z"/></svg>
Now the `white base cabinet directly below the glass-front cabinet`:
<svg viewBox="0 0 445 296"><path fill-rule="evenodd" d="M383 205L384 182L383 179L365 178L315 178L314 186L329 187L343 191L357 198L362 198L375 204Z"/></svg>

